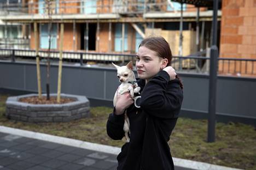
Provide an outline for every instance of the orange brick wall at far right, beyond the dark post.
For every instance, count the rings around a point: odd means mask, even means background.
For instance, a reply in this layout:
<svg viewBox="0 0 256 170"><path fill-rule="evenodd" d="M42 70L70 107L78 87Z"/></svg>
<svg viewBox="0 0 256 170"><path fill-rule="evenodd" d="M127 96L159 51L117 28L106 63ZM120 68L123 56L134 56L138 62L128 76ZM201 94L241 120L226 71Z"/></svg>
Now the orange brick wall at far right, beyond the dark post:
<svg viewBox="0 0 256 170"><path fill-rule="evenodd" d="M220 57L256 59L256 0L223 0L220 31ZM225 64L225 63L224 63ZM234 74L245 74L241 63L229 63ZM228 70L228 63L220 68ZM243 63L242 70L252 71L252 63ZM256 68L254 68L256 74Z"/></svg>

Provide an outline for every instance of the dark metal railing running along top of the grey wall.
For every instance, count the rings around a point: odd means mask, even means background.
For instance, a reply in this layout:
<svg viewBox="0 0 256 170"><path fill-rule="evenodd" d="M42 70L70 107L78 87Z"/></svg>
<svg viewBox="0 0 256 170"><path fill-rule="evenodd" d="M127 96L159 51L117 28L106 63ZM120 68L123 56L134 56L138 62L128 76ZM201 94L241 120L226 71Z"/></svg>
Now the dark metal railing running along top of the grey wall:
<svg viewBox="0 0 256 170"><path fill-rule="evenodd" d="M32 60L35 62L34 50L0 49L0 60ZM39 51L40 61L46 62L48 51ZM136 63L136 54L120 53L96 53L96 52L63 52L63 62L72 65L84 64L126 64L132 61ZM59 51L50 52L50 60L53 63L59 61ZM179 72L193 74L209 74L210 57L173 56L172 66ZM218 58L218 74L228 76L253 76L256 77L256 59Z"/></svg>

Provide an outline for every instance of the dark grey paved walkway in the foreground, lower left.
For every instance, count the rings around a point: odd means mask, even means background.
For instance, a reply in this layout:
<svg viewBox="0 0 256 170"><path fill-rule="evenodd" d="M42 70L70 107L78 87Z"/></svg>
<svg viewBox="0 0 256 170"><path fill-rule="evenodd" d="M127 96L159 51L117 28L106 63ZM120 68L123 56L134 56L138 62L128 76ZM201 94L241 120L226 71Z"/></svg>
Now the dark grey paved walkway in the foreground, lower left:
<svg viewBox="0 0 256 170"><path fill-rule="evenodd" d="M0 132L0 170L114 170L117 155ZM131 169L132 170L132 169ZM189 170L176 167L176 170Z"/></svg>

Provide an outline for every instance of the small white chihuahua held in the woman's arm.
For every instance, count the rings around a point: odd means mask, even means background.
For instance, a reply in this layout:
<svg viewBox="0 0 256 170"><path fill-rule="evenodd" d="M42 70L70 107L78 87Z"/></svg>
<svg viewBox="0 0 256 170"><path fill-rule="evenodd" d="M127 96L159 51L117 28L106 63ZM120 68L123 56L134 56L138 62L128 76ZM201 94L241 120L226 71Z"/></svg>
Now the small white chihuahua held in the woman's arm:
<svg viewBox="0 0 256 170"><path fill-rule="evenodd" d="M117 93L121 95L126 92L129 92L131 95L131 98L133 98L134 93L139 94L139 90L141 90L141 88L138 87L135 75L132 71L133 69L132 62L129 62L125 66L118 66L118 65L115 65L114 63L112 64L115 66L115 68L117 68L117 77L121 82L118 92L115 92L115 96L113 100L113 103L115 106L115 104L117 103ZM125 111L124 132L125 132L126 142L130 142L130 137L128 136L128 132L130 133L130 121L129 121L129 118L127 117L126 111Z"/></svg>

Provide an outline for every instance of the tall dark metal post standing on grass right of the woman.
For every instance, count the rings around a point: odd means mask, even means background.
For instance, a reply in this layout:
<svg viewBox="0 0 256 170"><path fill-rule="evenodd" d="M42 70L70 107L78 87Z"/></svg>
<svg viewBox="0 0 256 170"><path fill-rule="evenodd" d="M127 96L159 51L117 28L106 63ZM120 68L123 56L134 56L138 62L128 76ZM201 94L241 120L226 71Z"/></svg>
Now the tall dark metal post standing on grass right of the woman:
<svg viewBox="0 0 256 170"><path fill-rule="evenodd" d="M216 90L217 90L217 71L218 71L218 57L219 57L218 47L217 47L217 28L218 28L217 13L218 13L218 1L213 1L207 142L215 141Z"/></svg>

